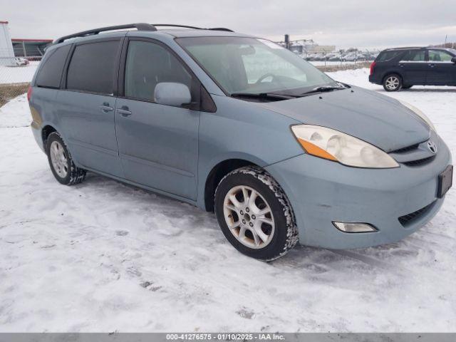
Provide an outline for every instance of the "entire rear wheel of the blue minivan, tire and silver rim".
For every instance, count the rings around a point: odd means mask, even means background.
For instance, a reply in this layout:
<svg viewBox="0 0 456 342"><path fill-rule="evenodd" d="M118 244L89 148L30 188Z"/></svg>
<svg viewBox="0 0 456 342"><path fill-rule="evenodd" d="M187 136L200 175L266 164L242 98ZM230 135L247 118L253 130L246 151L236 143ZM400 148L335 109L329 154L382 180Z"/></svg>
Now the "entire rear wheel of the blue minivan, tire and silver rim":
<svg viewBox="0 0 456 342"><path fill-rule="evenodd" d="M86 170L76 167L68 147L57 132L48 136L46 153L51 171L61 184L75 185L86 179Z"/></svg>

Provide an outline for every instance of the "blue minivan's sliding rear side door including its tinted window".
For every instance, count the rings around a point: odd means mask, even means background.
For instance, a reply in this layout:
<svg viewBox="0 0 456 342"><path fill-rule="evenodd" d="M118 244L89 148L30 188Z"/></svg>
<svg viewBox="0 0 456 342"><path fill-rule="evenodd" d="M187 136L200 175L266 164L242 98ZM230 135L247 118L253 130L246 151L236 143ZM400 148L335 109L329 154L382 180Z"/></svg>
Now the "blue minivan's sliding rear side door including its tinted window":
<svg viewBox="0 0 456 342"><path fill-rule="evenodd" d="M113 86L120 38L76 44L57 95L57 118L74 160L82 167L123 177L115 137Z"/></svg>

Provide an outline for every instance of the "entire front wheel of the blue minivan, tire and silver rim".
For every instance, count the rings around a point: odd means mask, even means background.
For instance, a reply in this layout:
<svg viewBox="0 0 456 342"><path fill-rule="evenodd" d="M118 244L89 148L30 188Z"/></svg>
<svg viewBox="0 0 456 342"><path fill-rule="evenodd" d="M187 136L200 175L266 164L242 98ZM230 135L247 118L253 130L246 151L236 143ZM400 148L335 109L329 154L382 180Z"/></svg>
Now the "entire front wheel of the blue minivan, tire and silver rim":
<svg viewBox="0 0 456 342"><path fill-rule="evenodd" d="M259 167L239 168L220 181L215 213L224 236L249 257L274 260L298 242L288 198Z"/></svg>

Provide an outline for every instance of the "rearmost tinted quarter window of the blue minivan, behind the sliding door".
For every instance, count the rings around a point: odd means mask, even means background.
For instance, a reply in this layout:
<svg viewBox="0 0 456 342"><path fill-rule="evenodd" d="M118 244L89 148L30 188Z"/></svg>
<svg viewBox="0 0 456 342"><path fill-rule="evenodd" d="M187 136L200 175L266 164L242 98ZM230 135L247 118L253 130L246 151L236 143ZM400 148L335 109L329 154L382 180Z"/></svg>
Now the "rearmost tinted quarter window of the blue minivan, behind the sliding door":
<svg viewBox="0 0 456 342"><path fill-rule="evenodd" d="M41 62L41 68L36 76L36 86L45 88L59 88L66 56L71 45L61 46L48 51L48 56Z"/></svg>

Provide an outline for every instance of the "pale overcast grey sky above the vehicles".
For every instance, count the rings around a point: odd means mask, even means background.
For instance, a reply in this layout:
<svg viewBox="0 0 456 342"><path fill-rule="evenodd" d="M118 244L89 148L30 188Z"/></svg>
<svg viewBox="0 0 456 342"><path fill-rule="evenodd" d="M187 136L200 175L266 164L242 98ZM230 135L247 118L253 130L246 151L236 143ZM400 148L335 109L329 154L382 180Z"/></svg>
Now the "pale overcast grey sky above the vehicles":
<svg viewBox="0 0 456 342"><path fill-rule="evenodd" d="M11 38L57 38L100 26L146 22L224 26L283 40L347 48L456 41L455 0L2 0Z"/></svg>

